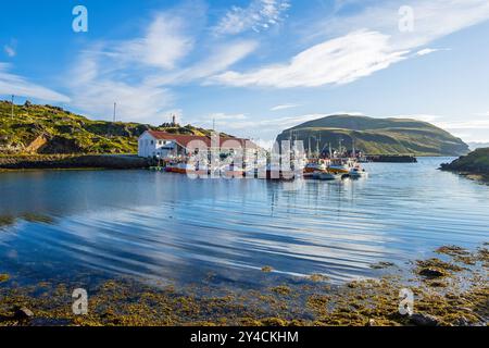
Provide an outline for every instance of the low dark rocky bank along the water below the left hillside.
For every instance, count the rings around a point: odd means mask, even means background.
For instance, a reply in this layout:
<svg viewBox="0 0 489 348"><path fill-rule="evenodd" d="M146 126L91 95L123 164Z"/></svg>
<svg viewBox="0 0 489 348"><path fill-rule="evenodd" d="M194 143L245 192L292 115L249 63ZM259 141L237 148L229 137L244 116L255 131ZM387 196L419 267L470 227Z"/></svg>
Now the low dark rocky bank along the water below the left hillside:
<svg viewBox="0 0 489 348"><path fill-rule="evenodd" d="M26 154L0 156L0 171L63 169L146 169L147 159L131 154Z"/></svg>

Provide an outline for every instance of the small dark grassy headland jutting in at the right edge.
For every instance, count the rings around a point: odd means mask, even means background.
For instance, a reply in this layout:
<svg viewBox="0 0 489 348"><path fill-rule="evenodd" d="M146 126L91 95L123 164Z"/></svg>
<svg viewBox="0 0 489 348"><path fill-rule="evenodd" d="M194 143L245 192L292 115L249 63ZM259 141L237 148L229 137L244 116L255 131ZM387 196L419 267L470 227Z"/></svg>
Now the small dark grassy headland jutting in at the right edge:
<svg viewBox="0 0 489 348"><path fill-rule="evenodd" d="M452 163L441 164L442 171L455 172L468 178L489 182L489 148L477 149Z"/></svg>

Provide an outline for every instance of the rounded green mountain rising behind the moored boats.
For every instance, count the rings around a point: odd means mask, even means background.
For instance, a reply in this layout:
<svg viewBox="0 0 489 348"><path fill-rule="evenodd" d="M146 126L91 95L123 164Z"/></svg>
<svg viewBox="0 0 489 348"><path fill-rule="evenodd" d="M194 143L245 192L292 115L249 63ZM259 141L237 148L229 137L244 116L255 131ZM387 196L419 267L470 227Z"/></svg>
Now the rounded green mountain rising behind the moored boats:
<svg viewBox="0 0 489 348"><path fill-rule="evenodd" d="M277 140L302 140L314 152L342 147L365 154L461 156L468 146L432 124L410 119L331 115L284 130Z"/></svg>

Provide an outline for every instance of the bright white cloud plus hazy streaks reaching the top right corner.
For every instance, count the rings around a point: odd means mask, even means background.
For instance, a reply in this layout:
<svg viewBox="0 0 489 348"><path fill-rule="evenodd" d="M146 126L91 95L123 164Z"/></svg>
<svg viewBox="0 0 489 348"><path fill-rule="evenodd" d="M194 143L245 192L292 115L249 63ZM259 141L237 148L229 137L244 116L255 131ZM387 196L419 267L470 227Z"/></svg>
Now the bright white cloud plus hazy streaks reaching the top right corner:
<svg viewBox="0 0 489 348"><path fill-rule="evenodd" d="M414 30L411 33L399 30L400 5L411 5L414 11ZM329 17L319 24L308 25L315 39L335 38L323 39L322 44L300 52L288 63L246 72L228 71L212 80L230 86L276 88L347 84L408 58L432 53L434 49L423 49L423 46L487 20L487 0L368 2L354 15ZM414 49L418 49L417 54L410 55Z"/></svg>

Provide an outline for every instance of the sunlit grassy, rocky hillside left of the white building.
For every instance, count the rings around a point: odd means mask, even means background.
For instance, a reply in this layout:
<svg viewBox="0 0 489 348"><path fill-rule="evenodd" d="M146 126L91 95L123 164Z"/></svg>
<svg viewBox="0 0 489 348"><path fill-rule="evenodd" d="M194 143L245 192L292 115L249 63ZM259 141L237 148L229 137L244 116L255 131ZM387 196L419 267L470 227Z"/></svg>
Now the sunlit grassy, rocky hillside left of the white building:
<svg viewBox="0 0 489 348"><path fill-rule="evenodd" d="M92 121L51 105L14 105L0 101L0 154L136 153L137 138L148 129L209 135L187 126Z"/></svg>

